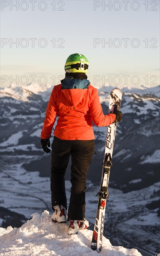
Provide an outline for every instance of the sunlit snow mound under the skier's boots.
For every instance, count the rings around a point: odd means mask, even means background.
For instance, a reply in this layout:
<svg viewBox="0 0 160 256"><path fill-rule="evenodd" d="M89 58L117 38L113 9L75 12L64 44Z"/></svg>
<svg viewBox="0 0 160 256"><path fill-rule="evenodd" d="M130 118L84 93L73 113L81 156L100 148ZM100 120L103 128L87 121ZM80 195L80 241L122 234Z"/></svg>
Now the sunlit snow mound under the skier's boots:
<svg viewBox="0 0 160 256"><path fill-rule="evenodd" d="M51 221L51 215L45 210L40 216L32 214L19 229L8 227L0 228L1 253L16 256L141 256L137 249L126 249L122 246L112 246L103 236L102 251L98 253L90 249L93 231L81 230L78 235L68 235L68 225Z"/></svg>

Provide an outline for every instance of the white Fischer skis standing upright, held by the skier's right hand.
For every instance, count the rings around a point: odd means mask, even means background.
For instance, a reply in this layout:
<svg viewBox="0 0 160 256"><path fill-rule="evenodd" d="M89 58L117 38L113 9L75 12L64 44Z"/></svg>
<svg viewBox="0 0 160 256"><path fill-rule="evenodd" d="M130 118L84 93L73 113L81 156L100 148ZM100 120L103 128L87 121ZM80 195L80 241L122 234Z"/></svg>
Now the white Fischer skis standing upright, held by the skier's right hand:
<svg viewBox="0 0 160 256"><path fill-rule="evenodd" d="M122 91L115 88L110 93L109 98L109 113L114 112L114 108L120 110L122 100ZM117 121L112 123L107 127L104 159L102 163L102 179L100 190L98 192L98 205L96 211L96 220L94 225L94 231L91 241L91 249L101 251L102 249L102 236L104 230L104 219L105 219L105 209L106 201L109 197L109 174L110 167L112 166L112 154L115 142L115 132L117 127Z"/></svg>

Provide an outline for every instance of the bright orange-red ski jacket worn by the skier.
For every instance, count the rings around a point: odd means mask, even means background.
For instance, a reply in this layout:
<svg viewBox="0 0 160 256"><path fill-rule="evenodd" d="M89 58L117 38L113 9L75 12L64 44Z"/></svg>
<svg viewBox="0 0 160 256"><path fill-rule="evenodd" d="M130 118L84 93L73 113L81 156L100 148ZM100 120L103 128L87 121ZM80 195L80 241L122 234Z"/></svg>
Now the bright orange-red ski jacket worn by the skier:
<svg viewBox="0 0 160 256"><path fill-rule="evenodd" d="M88 88L63 88L54 86L46 109L41 139L51 137L58 115L54 135L61 140L93 140L93 124L109 126L115 114L104 115L98 91L89 83Z"/></svg>

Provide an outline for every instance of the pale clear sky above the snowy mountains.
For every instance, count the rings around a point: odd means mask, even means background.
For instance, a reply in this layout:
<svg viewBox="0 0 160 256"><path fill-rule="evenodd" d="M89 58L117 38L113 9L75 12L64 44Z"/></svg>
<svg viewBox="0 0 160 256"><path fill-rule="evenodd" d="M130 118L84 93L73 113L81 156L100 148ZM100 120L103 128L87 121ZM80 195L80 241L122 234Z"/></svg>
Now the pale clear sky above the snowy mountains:
<svg viewBox="0 0 160 256"><path fill-rule="evenodd" d="M73 53L88 58L88 79L95 87L160 83L159 0L0 4L2 87L31 82L33 76L35 82L58 84Z"/></svg>

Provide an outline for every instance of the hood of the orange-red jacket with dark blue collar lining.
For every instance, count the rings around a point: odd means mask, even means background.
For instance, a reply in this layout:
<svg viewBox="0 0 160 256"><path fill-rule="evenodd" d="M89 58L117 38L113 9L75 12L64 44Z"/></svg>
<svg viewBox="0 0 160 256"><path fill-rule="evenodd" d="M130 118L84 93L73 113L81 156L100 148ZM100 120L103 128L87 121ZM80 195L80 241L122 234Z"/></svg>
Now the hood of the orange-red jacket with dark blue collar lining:
<svg viewBox="0 0 160 256"><path fill-rule="evenodd" d="M77 106L82 101L83 94L86 93L89 85L89 80L66 77L62 81L61 91L65 95L67 101L69 101L73 106Z"/></svg>

